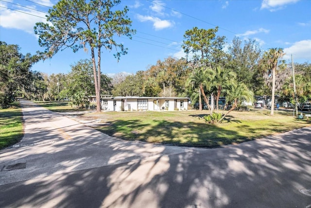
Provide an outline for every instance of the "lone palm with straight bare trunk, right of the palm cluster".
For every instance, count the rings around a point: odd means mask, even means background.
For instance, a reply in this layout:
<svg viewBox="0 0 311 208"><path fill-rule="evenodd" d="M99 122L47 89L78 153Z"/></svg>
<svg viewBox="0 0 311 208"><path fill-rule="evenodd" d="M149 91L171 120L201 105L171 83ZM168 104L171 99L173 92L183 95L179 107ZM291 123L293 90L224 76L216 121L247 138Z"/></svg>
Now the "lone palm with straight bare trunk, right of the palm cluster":
<svg viewBox="0 0 311 208"><path fill-rule="evenodd" d="M274 97L275 97L275 88L276 88L276 68L279 58L282 58L285 55L282 48L270 48L269 51L266 51L263 58L264 62L267 64L268 73L272 73L272 99L271 99L271 113L274 114Z"/></svg>

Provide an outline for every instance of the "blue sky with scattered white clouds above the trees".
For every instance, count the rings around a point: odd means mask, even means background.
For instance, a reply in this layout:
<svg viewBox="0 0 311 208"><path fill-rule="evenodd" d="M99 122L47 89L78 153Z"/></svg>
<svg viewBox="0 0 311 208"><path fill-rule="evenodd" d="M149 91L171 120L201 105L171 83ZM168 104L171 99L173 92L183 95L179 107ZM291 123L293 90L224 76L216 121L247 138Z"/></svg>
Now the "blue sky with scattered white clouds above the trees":
<svg viewBox="0 0 311 208"><path fill-rule="evenodd" d="M36 22L45 16L58 0L0 0L0 41L17 44L22 54L44 51L34 33ZM118 43L128 48L119 62L115 51L102 50L101 70L113 76L135 74L167 57L185 57L181 45L184 34L193 27L219 27L217 36L232 39L256 39L263 50L283 48L284 59L311 62L311 0L121 0L117 8L129 8L127 16L137 32L132 39L121 37ZM91 58L83 49L70 48L45 61L35 63L33 71L67 74L71 65Z"/></svg>

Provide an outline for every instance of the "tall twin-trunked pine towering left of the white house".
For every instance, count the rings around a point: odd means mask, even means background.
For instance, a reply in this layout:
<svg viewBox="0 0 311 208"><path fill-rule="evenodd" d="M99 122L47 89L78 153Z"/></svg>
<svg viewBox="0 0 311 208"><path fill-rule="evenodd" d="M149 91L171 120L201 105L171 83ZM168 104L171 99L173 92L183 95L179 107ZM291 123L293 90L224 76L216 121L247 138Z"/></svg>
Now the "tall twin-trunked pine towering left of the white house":
<svg viewBox="0 0 311 208"><path fill-rule="evenodd" d="M93 77L100 111L101 91L101 49L116 50L114 56L119 60L127 53L127 48L116 42L116 36L135 33L131 29L131 20L126 16L128 8L114 10L120 0L60 0L49 10L47 21L38 22L35 34L39 36L39 45L45 47L46 57L52 57L59 50L72 48L77 52L90 49ZM95 59L97 50L97 63Z"/></svg>

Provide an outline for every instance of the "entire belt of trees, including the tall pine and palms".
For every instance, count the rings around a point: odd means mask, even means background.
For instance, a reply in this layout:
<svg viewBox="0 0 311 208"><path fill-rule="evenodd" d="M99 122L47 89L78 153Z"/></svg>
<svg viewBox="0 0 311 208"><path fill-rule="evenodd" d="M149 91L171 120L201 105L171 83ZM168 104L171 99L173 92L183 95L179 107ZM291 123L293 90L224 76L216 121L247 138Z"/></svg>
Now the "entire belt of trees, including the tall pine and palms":
<svg viewBox="0 0 311 208"><path fill-rule="evenodd" d="M127 53L127 48L117 43L116 37L131 38L136 32L131 29L132 21L126 16L128 8L114 9L118 4L120 0L58 1L47 15L50 23L35 25L39 45L45 47L44 52L35 56L19 54L15 45L13 51L16 54L12 59L4 52L12 50L11 45L2 43L4 59L1 58L0 96L3 106L17 92L44 100L69 97L83 100L86 95L95 94L97 111L100 111L100 94L103 93L114 96L190 96L192 102L199 103L200 110L205 102L209 112L207 120L220 122L226 116L219 113L220 97L226 97L229 113L242 101L251 101L254 95L270 95L272 115L275 94L284 100L294 100L292 69L282 60L283 49L263 51L256 40L238 37L228 46L225 36L217 35L218 27L193 27L185 31L182 48L186 56L183 58L158 60L146 71L138 71L135 75L105 76L101 71L102 48L114 50L114 56L119 60ZM51 58L66 48L73 52L82 48L90 50L91 58L75 63L67 75L47 76L30 70L39 59ZM311 92L310 64L295 66L296 95L300 102L306 101Z"/></svg>

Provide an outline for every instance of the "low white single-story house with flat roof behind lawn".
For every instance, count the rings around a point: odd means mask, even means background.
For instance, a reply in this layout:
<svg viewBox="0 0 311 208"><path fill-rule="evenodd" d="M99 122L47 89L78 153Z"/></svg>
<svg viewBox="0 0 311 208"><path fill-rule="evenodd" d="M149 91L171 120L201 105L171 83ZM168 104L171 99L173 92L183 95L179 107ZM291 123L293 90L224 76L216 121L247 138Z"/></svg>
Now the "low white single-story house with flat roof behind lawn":
<svg viewBox="0 0 311 208"><path fill-rule="evenodd" d="M90 97L90 101L94 101L94 96ZM104 111L186 111L189 100L189 97L101 96L101 107Z"/></svg>

